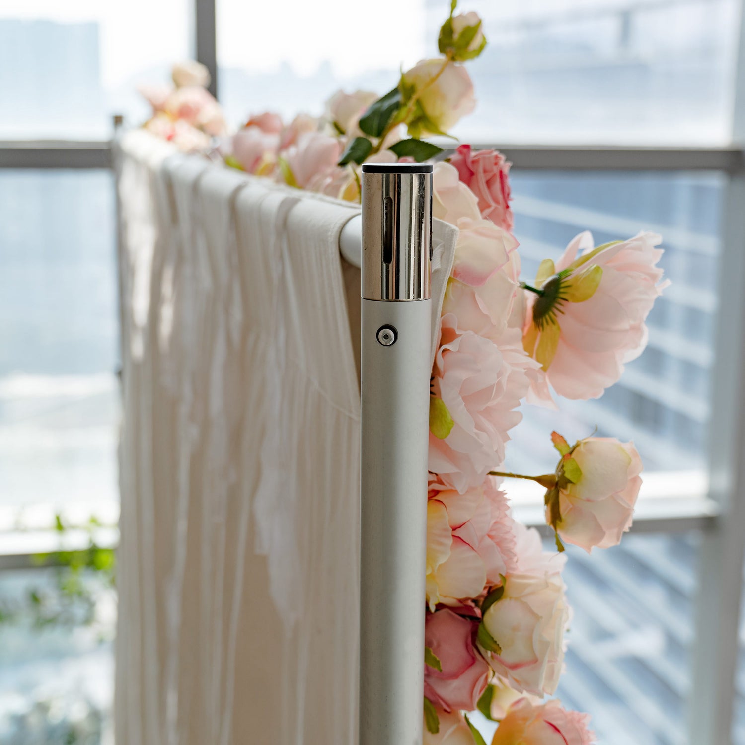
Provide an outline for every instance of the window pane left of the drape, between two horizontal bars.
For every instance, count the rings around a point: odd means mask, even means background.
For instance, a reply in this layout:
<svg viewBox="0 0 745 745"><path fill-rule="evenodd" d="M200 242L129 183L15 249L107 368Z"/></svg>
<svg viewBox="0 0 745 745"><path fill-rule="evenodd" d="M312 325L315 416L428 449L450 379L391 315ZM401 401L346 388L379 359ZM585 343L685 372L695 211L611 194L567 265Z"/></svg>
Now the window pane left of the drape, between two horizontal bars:
<svg viewBox="0 0 745 745"><path fill-rule="evenodd" d="M0 507L115 501L106 171L0 171Z"/></svg>

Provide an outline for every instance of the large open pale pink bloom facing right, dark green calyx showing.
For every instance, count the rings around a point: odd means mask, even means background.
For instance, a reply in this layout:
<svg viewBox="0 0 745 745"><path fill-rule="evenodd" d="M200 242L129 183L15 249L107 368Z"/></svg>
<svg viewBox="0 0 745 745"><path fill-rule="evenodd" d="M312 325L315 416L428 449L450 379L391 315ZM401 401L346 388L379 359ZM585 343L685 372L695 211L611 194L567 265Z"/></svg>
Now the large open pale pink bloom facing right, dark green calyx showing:
<svg viewBox="0 0 745 745"><path fill-rule="evenodd" d="M526 293L523 343L560 396L597 399L641 354L644 321L668 285L656 266L660 241L641 232L593 249L592 235L583 232L556 265L542 262L535 282L542 296Z"/></svg>

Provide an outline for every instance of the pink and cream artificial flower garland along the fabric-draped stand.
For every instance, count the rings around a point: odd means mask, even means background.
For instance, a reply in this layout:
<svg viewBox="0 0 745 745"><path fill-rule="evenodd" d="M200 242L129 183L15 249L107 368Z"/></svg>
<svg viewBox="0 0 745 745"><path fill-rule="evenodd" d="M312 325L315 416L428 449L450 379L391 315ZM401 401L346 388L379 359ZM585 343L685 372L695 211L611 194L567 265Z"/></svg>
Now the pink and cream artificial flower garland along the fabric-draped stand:
<svg viewBox="0 0 745 745"><path fill-rule="evenodd" d="M403 72L384 96L340 91L323 117L300 114L289 124L271 112L254 115L216 151L250 174L352 201L363 162L440 155L422 138L446 135L474 109L463 63L486 45L481 19L455 15L456 4L440 30L440 57ZM155 115L146 126L180 128L171 139L194 150L199 136L223 133L224 122L214 99L197 94L208 78L194 66L188 72L174 70L177 87L167 95L150 92ZM197 134L186 136L186 127ZM565 543L586 551L617 545L641 485L633 443L606 437L571 445L554 432L554 473L501 470L520 403L555 406L552 389L568 399L602 396L644 349L644 322L665 286L656 266L661 238L651 233L595 247L583 232L559 261L545 259L532 282L521 282L509 171L500 153L469 145L434 166L433 214L460 234L431 384L427 745L484 744L468 717L477 709L499 723L492 745L594 741L588 715L542 702L557 690L570 618L562 551ZM545 487L557 551L543 551L539 533L513 519L505 478Z"/></svg>

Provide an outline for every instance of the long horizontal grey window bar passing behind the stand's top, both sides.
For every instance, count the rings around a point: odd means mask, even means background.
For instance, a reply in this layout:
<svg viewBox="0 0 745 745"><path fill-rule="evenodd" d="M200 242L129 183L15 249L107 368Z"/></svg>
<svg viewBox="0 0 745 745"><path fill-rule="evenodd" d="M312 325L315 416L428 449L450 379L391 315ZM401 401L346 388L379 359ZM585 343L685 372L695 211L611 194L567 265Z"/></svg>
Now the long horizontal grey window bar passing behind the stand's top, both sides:
<svg viewBox="0 0 745 745"><path fill-rule="evenodd" d="M443 142L441 144L447 145ZM479 143L526 171L745 171L741 148L611 148ZM110 168L110 143L0 141L0 168Z"/></svg>

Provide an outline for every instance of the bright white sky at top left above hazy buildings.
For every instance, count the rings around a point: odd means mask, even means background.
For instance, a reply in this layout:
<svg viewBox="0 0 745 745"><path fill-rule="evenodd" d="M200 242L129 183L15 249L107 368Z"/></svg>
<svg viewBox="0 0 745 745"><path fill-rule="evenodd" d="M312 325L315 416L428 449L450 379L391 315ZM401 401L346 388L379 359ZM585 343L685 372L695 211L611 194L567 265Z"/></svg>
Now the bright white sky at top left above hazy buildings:
<svg viewBox="0 0 745 745"><path fill-rule="evenodd" d="M190 57L191 7L189 0L0 0L0 18L98 22L108 88ZM221 0L219 63L264 72L285 62L311 75L328 60L342 79L398 69L421 59L424 20L424 0Z"/></svg>

